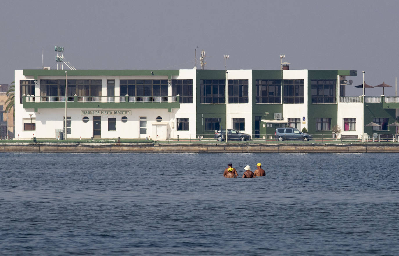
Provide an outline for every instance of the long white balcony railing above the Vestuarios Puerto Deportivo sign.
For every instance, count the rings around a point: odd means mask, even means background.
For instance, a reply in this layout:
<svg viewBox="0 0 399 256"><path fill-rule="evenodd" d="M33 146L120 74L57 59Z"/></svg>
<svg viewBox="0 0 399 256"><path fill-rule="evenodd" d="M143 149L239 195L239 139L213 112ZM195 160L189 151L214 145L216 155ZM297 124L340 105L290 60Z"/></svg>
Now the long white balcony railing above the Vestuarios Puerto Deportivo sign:
<svg viewBox="0 0 399 256"><path fill-rule="evenodd" d="M67 102L74 102L74 96L67 96ZM115 96L77 96L77 102L115 102ZM65 102L65 96L27 95L26 102ZM119 102L126 102L126 96L119 96ZM128 102L177 102L176 96L128 96Z"/></svg>

